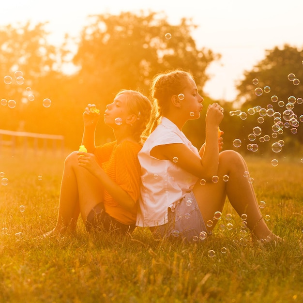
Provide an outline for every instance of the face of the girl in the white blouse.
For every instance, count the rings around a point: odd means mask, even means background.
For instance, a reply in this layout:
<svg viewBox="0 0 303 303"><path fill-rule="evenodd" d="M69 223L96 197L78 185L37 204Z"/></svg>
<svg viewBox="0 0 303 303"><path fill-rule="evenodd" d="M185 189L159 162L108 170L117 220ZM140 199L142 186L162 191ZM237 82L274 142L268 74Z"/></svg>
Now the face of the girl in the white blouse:
<svg viewBox="0 0 303 303"><path fill-rule="evenodd" d="M183 90L184 98L181 100L182 104L182 111L185 115L188 115L188 119L198 119L200 118L200 113L203 109L203 98L199 95L197 85L195 81L188 77L187 85L185 89ZM179 95L179 100L182 99Z"/></svg>

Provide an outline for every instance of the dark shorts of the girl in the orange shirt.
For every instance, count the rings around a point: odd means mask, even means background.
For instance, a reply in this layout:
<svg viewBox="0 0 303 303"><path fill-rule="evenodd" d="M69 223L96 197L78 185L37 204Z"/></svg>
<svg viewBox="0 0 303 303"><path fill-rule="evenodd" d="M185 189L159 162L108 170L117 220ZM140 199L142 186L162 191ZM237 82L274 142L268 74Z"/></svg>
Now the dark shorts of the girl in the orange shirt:
<svg viewBox="0 0 303 303"><path fill-rule="evenodd" d="M111 217L107 212L105 212L103 203L97 204L91 210L85 222L85 228L88 232L104 230L125 235L127 233L132 233L135 227L135 223L126 225Z"/></svg>

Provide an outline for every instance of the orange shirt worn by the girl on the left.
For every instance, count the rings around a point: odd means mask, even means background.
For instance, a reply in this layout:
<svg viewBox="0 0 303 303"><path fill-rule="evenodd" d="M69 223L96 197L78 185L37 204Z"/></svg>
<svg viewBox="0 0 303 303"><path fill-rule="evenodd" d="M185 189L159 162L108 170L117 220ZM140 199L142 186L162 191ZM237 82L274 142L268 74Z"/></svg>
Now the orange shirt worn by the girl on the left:
<svg viewBox="0 0 303 303"><path fill-rule="evenodd" d="M96 147L94 152L97 162L106 174L127 192L134 201L140 194L141 167L137 154L141 149L139 143L117 141ZM136 223L137 204L132 210L122 208L106 190L103 191L103 203L106 212L123 224Z"/></svg>

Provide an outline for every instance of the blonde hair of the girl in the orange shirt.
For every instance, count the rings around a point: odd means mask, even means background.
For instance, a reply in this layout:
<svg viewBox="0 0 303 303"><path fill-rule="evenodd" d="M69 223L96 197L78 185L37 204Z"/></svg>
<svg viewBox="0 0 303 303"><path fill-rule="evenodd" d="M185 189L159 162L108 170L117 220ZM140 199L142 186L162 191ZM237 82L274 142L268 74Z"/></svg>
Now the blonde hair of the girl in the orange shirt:
<svg viewBox="0 0 303 303"><path fill-rule="evenodd" d="M144 141L144 139L141 138L142 133L145 131L151 119L152 103L148 97L139 91L121 90L117 93L116 97L121 94L127 96L126 102L129 113L137 117L136 122L132 126L134 139L142 143L142 141Z"/></svg>

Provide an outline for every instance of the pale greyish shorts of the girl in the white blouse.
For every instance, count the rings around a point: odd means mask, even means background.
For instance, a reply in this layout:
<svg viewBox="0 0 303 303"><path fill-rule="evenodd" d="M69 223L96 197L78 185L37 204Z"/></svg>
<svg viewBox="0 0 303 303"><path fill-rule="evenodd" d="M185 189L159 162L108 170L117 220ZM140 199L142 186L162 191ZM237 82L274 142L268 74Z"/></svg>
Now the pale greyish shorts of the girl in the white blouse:
<svg viewBox="0 0 303 303"><path fill-rule="evenodd" d="M168 223L153 231L155 238L203 242L212 232L206 229L193 192L187 193L174 209L168 208Z"/></svg>

